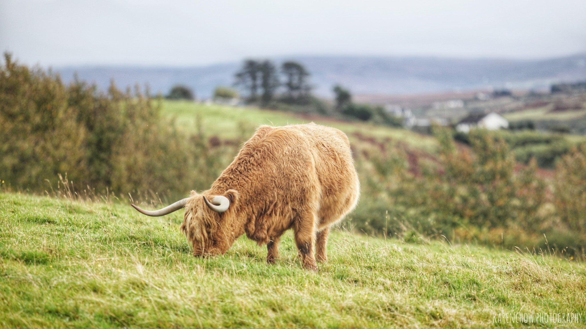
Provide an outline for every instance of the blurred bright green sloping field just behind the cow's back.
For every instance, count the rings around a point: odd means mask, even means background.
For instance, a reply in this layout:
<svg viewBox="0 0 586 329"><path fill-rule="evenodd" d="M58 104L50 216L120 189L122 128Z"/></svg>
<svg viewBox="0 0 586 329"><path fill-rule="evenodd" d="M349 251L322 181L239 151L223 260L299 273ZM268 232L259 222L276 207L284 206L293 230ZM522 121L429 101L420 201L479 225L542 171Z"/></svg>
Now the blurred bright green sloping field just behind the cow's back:
<svg viewBox="0 0 586 329"><path fill-rule="evenodd" d="M316 124L332 126L345 132L350 141L356 140L353 133L384 139L390 138L406 142L414 148L426 152L435 152L437 142L431 136L421 135L407 129L367 124L363 122L346 122L324 116L298 115L288 112L271 111L252 107L230 107L226 105L206 105L190 101L162 101L162 114L175 118L175 124L188 132L196 131L196 116L201 118L202 132L207 136L219 136L224 139L250 137L259 125L283 126Z"/></svg>

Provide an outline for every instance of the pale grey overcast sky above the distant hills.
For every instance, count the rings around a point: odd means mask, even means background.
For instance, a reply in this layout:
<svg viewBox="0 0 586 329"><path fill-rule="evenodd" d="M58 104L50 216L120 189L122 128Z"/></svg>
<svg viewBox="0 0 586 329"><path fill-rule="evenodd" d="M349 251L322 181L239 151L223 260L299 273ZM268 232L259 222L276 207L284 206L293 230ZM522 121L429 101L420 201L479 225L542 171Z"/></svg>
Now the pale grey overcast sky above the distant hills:
<svg viewBox="0 0 586 329"><path fill-rule="evenodd" d="M0 50L43 66L545 58L586 52L586 0L0 0Z"/></svg>

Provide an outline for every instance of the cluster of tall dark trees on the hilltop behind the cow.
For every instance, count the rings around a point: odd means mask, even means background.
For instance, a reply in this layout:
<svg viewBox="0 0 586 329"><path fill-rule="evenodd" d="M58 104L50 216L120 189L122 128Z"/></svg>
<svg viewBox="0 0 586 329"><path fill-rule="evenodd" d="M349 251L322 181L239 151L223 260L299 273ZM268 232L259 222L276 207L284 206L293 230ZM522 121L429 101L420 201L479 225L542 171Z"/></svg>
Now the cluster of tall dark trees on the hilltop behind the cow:
<svg viewBox="0 0 586 329"><path fill-rule="evenodd" d="M267 105L272 101L307 104L311 97L309 72L295 61L277 68L270 60L246 60L236 73L236 85L247 92L248 102ZM281 88L285 91L279 94Z"/></svg>

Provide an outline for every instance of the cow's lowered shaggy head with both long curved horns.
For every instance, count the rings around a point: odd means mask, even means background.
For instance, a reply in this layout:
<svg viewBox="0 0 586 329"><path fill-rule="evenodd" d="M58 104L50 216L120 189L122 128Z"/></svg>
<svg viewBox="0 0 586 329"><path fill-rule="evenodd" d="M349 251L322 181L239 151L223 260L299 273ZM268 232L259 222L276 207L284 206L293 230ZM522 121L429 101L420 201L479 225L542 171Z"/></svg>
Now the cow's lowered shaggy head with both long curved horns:
<svg viewBox="0 0 586 329"><path fill-rule="evenodd" d="M222 195L191 192L189 198L177 201L161 210L136 210L149 216L162 216L185 208L181 231L193 246L193 255L207 256L225 253L234 240L243 234L236 218L238 192L228 190Z"/></svg>

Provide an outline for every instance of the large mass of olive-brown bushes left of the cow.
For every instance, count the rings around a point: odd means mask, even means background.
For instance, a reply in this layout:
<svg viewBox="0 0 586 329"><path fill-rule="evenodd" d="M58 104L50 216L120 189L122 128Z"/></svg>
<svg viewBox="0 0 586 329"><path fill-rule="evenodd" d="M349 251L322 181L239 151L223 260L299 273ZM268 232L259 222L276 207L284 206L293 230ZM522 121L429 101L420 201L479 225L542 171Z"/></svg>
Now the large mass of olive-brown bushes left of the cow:
<svg viewBox="0 0 586 329"><path fill-rule="evenodd" d="M176 131L138 88L64 85L9 54L0 67L0 126L0 179L17 190L50 190L63 174L86 193L183 195L209 186L217 162L230 160Z"/></svg>

